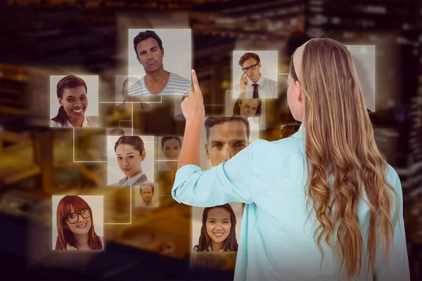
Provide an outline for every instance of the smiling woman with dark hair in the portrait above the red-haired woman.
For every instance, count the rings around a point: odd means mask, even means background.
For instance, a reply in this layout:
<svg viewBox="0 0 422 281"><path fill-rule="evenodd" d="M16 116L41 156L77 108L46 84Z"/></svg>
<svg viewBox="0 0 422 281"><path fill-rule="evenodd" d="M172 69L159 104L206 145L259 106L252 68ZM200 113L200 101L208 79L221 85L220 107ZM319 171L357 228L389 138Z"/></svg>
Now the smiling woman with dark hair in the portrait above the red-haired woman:
<svg viewBox="0 0 422 281"><path fill-rule="evenodd" d="M87 83L75 75L68 75L57 84L60 107L51 127L98 127L98 117L84 116L88 107Z"/></svg>

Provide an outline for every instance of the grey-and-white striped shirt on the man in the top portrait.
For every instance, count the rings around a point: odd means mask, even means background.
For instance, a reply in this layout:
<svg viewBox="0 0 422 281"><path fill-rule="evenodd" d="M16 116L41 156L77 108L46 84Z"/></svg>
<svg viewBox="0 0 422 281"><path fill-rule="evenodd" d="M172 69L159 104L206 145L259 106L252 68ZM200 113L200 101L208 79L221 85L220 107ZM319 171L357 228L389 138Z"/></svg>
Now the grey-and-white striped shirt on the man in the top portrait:
<svg viewBox="0 0 422 281"><path fill-rule="evenodd" d="M129 86L129 96L183 96L191 93L191 81L170 72L169 79L160 93L151 93L145 85L145 76Z"/></svg>

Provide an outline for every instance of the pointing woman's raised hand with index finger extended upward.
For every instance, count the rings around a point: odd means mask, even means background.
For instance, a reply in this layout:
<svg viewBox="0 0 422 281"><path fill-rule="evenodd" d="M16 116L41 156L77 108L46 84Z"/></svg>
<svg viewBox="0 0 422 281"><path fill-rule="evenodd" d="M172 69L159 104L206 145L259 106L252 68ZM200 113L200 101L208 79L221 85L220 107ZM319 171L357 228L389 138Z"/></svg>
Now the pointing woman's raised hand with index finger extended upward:
<svg viewBox="0 0 422 281"><path fill-rule="evenodd" d="M186 122L200 122L202 124L205 117L204 99L199 89L195 70L192 70L192 82L193 92L181 102L181 111L186 118Z"/></svg>

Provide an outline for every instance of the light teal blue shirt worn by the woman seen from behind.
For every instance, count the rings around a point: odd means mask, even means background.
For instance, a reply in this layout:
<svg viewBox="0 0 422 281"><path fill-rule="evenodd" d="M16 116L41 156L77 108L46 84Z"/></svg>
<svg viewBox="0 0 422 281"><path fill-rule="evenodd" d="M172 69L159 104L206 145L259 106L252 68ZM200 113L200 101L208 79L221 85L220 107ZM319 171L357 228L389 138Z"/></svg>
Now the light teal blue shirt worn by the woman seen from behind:
<svg viewBox="0 0 422 281"><path fill-rule="evenodd" d="M324 249L321 263L321 252L313 235L316 219L311 215L307 221L304 131L301 128L290 138L279 141L256 140L229 161L207 171L196 165L186 165L177 171L172 196L179 203L196 207L246 203L236 281L339 280L340 261L326 244L321 244ZM374 279L407 281L410 277L402 187L391 166L385 176L397 192L399 209L392 210L394 249L390 249L388 263L384 263L383 247L378 247ZM360 200L358 216L365 247L369 214L369 207ZM362 273L352 280L367 280L366 262L364 265Z"/></svg>

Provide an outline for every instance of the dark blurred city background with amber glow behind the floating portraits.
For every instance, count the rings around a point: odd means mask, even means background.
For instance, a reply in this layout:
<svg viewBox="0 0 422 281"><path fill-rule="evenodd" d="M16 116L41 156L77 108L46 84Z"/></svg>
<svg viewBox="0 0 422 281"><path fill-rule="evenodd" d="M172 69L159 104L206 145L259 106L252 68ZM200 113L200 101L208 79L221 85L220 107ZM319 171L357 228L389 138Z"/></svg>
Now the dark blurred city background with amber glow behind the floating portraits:
<svg viewBox="0 0 422 281"><path fill-rule="evenodd" d="M376 45L376 111L370 117L378 148L402 181L411 280L422 280L422 1L7 0L0 11L2 275L233 279L224 265L189 270L191 207L170 196L172 171L155 169L160 207L131 209L134 190L106 186L106 129L73 136L71 129L49 128L50 75L98 75L100 102L113 102L115 76L128 74L128 28L191 28L207 116L224 114L219 105L231 89L235 49L278 51L279 73L287 73L295 48L313 37ZM279 75L279 99L266 101L260 138L274 141L281 126L295 124L286 107L286 78ZM105 128L124 119L115 105L100 103L99 110ZM174 119L169 100L133 115L139 135L183 135L184 122ZM104 196L105 251L51 251L51 195L65 194Z"/></svg>

